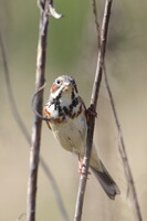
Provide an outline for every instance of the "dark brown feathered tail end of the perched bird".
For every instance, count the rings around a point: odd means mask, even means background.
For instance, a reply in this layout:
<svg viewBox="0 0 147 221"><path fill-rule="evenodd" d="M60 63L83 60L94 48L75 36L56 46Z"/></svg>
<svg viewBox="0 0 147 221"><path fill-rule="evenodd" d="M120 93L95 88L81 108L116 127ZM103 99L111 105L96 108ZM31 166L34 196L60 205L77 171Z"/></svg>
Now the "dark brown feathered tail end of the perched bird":
<svg viewBox="0 0 147 221"><path fill-rule="evenodd" d="M115 183L106 168L104 167L103 162L101 162L102 171L96 170L94 167L91 166L92 171L98 179L101 186L103 187L106 194L114 200L116 194L120 193L118 186Z"/></svg>

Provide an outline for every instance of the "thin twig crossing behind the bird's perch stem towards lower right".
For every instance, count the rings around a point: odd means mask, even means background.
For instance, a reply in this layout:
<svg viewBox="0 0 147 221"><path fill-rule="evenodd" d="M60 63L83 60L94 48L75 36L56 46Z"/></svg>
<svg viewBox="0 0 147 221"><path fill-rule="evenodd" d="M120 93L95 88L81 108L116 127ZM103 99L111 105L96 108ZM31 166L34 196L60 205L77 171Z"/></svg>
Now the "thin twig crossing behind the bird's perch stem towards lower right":
<svg viewBox="0 0 147 221"><path fill-rule="evenodd" d="M99 40L101 30L98 29L99 22L98 22L98 17L97 17L97 11L96 11L96 2L95 2L95 0L92 0L92 1L93 1L93 13L94 13L94 18L95 18L95 27L96 27L96 30L97 30L97 39L98 39L98 48L99 48L99 42L101 42L101 40ZM126 152L126 147L125 147L125 141L124 141L124 137L123 137L123 133L122 133L120 123L119 123L119 119L118 119L118 115L117 115L117 112L116 112L113 94L112 94L111 86L109 86L108 78L107 78L105 62L104 62L104 65L103 65L103 72L104 72L104 81L105 81L107 94L108 94L108 97L109 97L109 101L111 101L111 107L112 107L112 110L113 110L113 114L114 114L114 120L115 120L116 128L117 128L118 135L119 135L118 148L119 148L120 158L123 160L124 171L125 171L125 175L126 175L128 187L132 190L133 204L134 204L134 208L135 208L135 211L136 211L137 220L141 221L143 218L141 218L140 207L139 207L137 192L136 192L136 188L135 188L135 182L134 182L130 166L129 166L129 162L128 162L128 157L127 157L127 152Z"/></svg>

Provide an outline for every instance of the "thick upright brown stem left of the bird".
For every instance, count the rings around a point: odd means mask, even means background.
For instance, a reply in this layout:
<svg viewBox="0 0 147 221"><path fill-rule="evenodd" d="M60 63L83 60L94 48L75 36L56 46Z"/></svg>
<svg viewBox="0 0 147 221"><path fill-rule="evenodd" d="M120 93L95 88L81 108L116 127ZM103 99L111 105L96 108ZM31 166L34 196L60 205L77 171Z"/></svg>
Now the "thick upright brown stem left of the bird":
<svg viewBox="0 0 147 221"><path fill-rule="evenodd" d="M45 9L44 11L41 10L36 72L35 72L35 91L39 91L39 88L44 84L48 23L49 23L49 15ZM34 106L35 109L40 114L42 114L43 91L38 93ZM40 154L40 141L41 141L41 126L42 126L42 119L35 115L32 127L32 145L30 150L30 175L28 183L27 221L35 221L36 182L38 182L39 154Z"/></svg>

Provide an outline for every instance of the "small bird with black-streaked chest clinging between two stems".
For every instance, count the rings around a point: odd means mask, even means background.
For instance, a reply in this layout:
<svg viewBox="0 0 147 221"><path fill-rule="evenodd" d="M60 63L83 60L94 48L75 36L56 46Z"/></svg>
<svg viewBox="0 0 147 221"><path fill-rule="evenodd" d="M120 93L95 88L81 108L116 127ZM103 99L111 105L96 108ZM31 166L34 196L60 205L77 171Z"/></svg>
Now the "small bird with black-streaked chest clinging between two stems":
<svg viewBox="0 0 147 221"><path fill-rule="evenodd" d="M82 165L87 136L87 108L78 95L75 80L70 75L59 76L51 86L44 105L46 124L59 144L74 152ZM80 166L80 171L81 171ZM92 147L90 168L96 176L109 199L115 199L120 190L98 157L95 145Z"/></svg>

